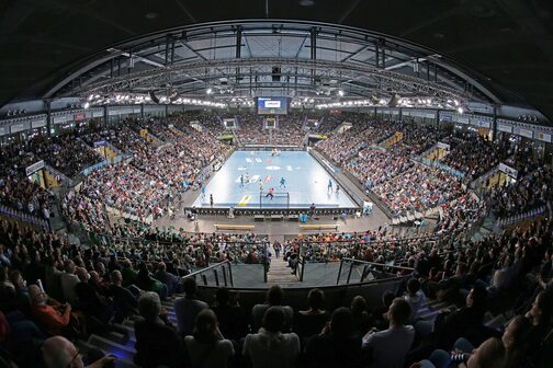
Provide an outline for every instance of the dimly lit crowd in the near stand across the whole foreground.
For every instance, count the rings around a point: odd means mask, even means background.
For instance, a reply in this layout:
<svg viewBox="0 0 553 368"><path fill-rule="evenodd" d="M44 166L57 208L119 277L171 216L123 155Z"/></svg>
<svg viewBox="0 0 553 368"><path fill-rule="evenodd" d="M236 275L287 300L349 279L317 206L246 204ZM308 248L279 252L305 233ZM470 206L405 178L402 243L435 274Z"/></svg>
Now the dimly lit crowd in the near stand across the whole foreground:
<svg viewBox="0 0 553 368"><path fill-rule="evenodd" d="M134 360L142 367L546 367L552 230L549 219L481 241L409 244L402 252L410 268L398 273L399 288L382 294L382 304L365 299L366 290L326 300L312 289L306 308L292 308L279 286L248 307L226 288L199 292L193 278L180 280L189 269L170 250L86 249L2 221L0 347L11 354L1 358L21 367L72 367L75 359L106 367L113 356L90 349L82 357L74 342L128 333L119 324L127 320L135 321ZM188 239L202 237L212 235ZM432 311L430 300L452 307ZM486 324L490 311L507 315L505 323Z"/></svg>

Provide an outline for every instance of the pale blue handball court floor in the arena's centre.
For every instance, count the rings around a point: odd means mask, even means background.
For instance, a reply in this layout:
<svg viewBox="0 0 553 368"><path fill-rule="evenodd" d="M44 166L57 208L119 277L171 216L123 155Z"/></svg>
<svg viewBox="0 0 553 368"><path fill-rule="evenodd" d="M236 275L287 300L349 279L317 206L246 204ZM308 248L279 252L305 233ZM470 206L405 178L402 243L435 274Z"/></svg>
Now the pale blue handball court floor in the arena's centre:
<svg viewBox="0 0 553 368"><path fill-rule="evenodd" d="M240 175L244 179L241 185ZM280 185L284 177L285 187ZM290 208L306 208L314 203L317 208L357 207L340 188L336 193L336 182L329 191L328 172L305 151L284 151L272 157L270 151L236 151L212 176L205 187L205 196L200 194L193 206L216 208L285 208L289 206L285 193L290 196ZM274 197L260 198L260 184L267 194L274 188Z"/></svg>

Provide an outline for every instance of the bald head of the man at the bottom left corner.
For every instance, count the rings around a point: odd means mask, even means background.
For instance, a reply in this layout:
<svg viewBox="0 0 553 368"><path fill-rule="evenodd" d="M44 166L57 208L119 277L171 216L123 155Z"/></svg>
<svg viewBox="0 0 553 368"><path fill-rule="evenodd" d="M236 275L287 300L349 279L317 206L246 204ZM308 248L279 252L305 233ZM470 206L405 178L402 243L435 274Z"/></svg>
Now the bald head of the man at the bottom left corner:
<svg viewBox="0 0 553 368"><path fill-rule="evenodd" d="M65 337L46 338L42 347L43 359L47 368L83 368L82 357L77 347Z"/></svg>

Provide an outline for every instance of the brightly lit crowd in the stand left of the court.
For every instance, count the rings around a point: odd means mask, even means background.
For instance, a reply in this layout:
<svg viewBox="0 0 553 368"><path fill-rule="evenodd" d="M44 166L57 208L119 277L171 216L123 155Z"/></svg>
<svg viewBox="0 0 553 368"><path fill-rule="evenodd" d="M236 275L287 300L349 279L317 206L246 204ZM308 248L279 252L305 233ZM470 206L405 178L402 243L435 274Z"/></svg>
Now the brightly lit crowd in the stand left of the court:
<svg viewBox="0 0 553 368"><path fill-rule="evenodd" d="M226 150L212 135L191 128L189 123L185 116L171 117L162 123L156 119L131 122L128 127L87 137L89 141L106 138L117 149L132 153L133 159L92 172L82 182L81 195L89 202L100 202L142 220L172 211L171 206L179 193L189 187L198 189L205 180L200 175L201 169L210 162L221 163ZM169 124L173 126L169 127ZM151 131L156 139L166 141L153 145L148 142L148 136L139 135L140 131ZM70 203L71 198L66 198L66 205ZM91 206L101 208L99 204ZM78 219L69 207L66 206L66 216ZM92 229L102 218L99 215L93 217L93 223L86 225Z"/></svg>

